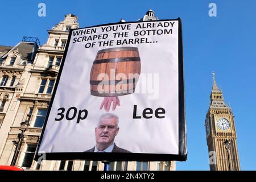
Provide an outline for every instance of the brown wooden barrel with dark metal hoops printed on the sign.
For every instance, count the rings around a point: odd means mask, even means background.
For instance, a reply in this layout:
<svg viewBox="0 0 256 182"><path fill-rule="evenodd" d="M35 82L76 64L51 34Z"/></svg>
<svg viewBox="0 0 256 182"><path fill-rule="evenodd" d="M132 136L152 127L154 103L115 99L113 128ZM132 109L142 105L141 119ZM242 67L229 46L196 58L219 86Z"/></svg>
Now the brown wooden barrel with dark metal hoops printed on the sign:
<svg viewBox="0 0 256 182"><path fill-rule="evenodd" d="M90 71L90 93L110 97L133 93L141 73L137 47L102 49Z"/></svg>

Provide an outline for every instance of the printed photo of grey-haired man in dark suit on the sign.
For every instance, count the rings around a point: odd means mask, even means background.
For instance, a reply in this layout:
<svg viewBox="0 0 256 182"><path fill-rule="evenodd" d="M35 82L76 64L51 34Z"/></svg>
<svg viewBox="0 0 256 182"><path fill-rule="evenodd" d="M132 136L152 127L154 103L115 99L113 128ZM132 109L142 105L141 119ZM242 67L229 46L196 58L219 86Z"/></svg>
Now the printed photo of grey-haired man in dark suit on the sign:
<svg viewBox="0 0 256 182"><path fill-rule="evenodd" d="M85 152L130 152L115 145L119 118L113 113L102 114L95 128L96 146Z"/></svg>

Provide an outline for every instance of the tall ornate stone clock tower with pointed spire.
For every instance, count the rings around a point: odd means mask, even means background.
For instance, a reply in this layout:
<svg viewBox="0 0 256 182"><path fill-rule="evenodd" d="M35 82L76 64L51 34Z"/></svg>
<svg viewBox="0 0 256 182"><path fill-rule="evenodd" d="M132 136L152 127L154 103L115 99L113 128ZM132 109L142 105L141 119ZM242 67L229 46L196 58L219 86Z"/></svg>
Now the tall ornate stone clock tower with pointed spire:
<svg viewBox="0 0 256 182"><path fill-rule="evenodd" d="M212 75L213 86L212 93L210 93L210 107L205 118L210 170L228 171L230 169L238 171L240 170L240 162L234 116L231 108L225 104L221 90L218 89L215 74L212 73ZM228 150L225 147L225 141L230 143Z"/></svg>

